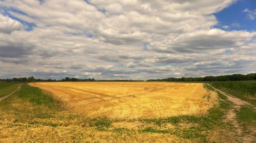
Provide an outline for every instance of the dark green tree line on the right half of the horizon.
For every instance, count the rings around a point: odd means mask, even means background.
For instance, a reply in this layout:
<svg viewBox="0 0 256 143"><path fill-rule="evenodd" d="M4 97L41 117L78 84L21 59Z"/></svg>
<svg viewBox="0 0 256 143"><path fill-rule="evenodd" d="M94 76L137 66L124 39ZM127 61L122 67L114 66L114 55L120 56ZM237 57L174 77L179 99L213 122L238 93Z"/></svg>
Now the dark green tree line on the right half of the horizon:
<svg viewBox="0 0 256 143"><path fill-rule="evenodd" d="M165 79L149 79L147 81L241 81L256 80L256 73L250 74L232 74L221 76L205 76L205 77L181 77L181 78L165 78Z"/></svg>

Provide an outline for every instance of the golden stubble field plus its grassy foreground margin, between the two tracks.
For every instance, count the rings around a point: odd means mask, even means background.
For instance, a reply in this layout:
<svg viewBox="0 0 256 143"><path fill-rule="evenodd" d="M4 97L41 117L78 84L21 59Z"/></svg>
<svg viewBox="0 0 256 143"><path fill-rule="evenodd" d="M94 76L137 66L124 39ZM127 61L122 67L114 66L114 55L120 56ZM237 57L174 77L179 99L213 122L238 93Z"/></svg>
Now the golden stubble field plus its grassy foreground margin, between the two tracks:
<svg viewBox="0 0 256 143"><path fill-rule="evenodd" d="M203 83L23 83L0 101L0 142L244 142L255 115L246 107L238 113L246 124L238 133L225 118L231 104L209 89ZM242 122L246 112L251 116Z"/></svg>

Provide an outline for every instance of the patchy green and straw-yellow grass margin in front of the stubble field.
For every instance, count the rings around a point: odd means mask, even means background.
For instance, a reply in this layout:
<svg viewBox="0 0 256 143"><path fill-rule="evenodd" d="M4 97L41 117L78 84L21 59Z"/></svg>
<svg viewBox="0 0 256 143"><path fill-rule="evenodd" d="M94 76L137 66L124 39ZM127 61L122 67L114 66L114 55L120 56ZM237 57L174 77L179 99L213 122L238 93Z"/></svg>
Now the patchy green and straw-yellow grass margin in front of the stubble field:
<svg viewBox="0 0 256 143"><path fill-rule="evenodd" d="M217 142L226 142L236 135L232 125L223 122L228 108L220 102L201 117L90 118L23 84L0 102L0 142L216 142L213 134L224 135Z"/></svg>

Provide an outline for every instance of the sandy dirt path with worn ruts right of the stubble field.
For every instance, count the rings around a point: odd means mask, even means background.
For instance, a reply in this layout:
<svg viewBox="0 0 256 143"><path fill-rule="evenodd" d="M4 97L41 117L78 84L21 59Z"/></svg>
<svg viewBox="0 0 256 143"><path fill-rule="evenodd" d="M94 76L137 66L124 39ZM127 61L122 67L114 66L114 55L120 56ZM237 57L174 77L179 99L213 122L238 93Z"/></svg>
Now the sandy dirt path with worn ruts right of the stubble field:
<svg viewBox="0 0 256 143"><path fill-rule="evenodd" d="M223 92L223 91L220 91L220 90L218 90L218 89L216 89L216 88L214 88L214 87L212 87L210 84L208 84L208 83L206 83L207 85L209 85L211 88L213 88L214 90L216 90L216 91L218 91L218 92L220 92L221 94L223 94L223 95L225 95L226 97L227 97L227 100L228 101L231 101L231 102L233 102L234 104L231 104L231 109L227 112L227 115L226 115L226 117L225 117L225 122L230 122L230 123L232 123L233 125L234 125L234 127L235 127L235 130L236 130L236 132L237 132L237 134L238 135L242 135L242 133L243 133L243 131L242 131L242 128L239 126L239 123L238 123L238 121L236 120L236 110L239 110L240 108L241 108L241 106L242 105L251 105L250 103L248 103L248 102L246 102L246 101L243 101L243 100L241 100L241 99L239 99L239 98L236 98L236 97L234 97L234 96L232 96L232 95L230 95L230 94L227 94L227 93L225 93L225 92ZM223 100L223 99L220 99L221 101L224 101L224 102L226 102L225 100ZM251 106L253 106L253 105L251 105ZM255 107L254 107L254 109L255 109ZM238 137L238 139L241 141L241 142L251 142L252 140L251 140L251 138L252 138L252 136L251 135L246 135L246 136L244 136L244 137Z"/></svg>

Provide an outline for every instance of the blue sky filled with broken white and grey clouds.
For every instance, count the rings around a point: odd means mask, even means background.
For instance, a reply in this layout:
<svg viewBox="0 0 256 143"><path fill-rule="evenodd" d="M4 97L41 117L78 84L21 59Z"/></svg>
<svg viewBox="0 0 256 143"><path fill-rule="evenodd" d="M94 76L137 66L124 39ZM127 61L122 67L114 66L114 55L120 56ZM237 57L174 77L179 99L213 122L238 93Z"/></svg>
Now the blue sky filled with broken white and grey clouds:
<svg viewBox="0 0 256 143"><path fill-rule="evenodd" d="M0 78L255 72L255 0L0 0Z"/></svg>

